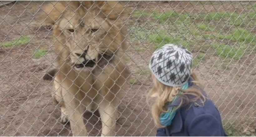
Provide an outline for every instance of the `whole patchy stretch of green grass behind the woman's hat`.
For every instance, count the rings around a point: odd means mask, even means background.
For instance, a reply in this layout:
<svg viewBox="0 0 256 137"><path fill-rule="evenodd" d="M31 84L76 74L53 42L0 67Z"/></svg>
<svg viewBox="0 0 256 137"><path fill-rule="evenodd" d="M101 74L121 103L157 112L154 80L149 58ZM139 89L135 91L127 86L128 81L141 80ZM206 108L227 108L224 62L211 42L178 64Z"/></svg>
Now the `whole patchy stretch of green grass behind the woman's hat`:
<svg viewBox="0 0 256 137"><path fill-rule="evenodd" d="M132 39L136 43L152 43L154 49L169 43L183 45L188 50L192 50L193 47L193 52L199 52L193 60L193 66L198 66L201 60L207 59L208 56L205 52L208 52L209 48L213 49L209 52L214 51L214 55L222 59L225 69L228 69L228 66L224 62L229 63L231 59L242 59L248 51L256 50L254 48L256 45L255 34L250 32L254 27L251 21L255 18L254 11L243 14L235 12L200 13L197 14L199 17L195 17L196 14L188 15L176 11L153 12L151 16L147 13L135 12L135 16L141 14L158 21L154 22L153 26L151 23L143 27L135 25L130 28L132 29ZM199 23L193 22L192 19ZM221 29L223 23L219 20L226 22L224 29ZM152 27L153 29L151 29ZM227 32L228 34L226 34ZM206 43L213 44L207 46ZM202 44L205 46L202 47ZM137 52L144 50L144 47L136 47ZM206 56L204 56L205 54Z"/></svg>

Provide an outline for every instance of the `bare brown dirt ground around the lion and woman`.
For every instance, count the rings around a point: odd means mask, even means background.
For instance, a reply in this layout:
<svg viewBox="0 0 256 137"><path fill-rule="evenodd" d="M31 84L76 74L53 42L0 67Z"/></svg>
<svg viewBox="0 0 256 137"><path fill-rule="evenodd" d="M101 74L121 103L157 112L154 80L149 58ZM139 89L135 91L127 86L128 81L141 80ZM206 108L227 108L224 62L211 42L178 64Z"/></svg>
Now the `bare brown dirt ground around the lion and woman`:
<svg viewBox="0 0 256 137"><path fill-rule="evenodd" d="M52 68L56 54L52 50L52 31L38 27L34 15L40 11L43 1L19 1L0 8L0 42L28 35L32 37L29 44L11 48L0 47L0 135L1 136L72 136L69 124L60 123L60 109L52 102L52 81L43 80L43 75ZM177 11L238 11L236 7L243 2L197 3L182 1L133 2L131 8L173 8ZM218 8L217 8L218 7ZM246 12L246 11L244 11ZM132 20L132 18L130 18ZM128 26L130 24L128 23ZM148 60L154 51L147 49L143 53L135 50L131 43L127 54L132 72L131 78L140 77L140 81L127 85L127 95L119 107L121 116L117 120L117 136L154 136L156 128L151 118L150 107L146 104L146 94L151 85L149 75L135 72L148 67ZM142 43L146 44L146 43ZM38 48L49 49L44 58L33 58ZM195 70L203 83L204 90L216 103L224 120L248 120L255 118L255 51L247 58L230 64L229 71L214 67L218 57L202 61ZM90 136L99 136L101 122L99 114L86 113L86 128ZM251 119L250 119L251 120ZM254 123L255 122L255 119ZM251 121L253 123L253 121ZM255 125L256 126L256 125Z"/></svg>

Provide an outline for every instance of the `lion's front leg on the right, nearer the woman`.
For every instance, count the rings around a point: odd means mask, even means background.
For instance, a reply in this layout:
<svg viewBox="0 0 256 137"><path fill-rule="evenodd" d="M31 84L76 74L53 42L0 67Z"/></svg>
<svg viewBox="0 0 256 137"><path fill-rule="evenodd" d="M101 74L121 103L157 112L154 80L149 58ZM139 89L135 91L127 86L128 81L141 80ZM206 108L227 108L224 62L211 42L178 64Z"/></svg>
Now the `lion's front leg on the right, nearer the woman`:
<svg viewBox="0 0 256 137"><path fill-rule="evenodd" d="M101 115L102 132L101 136L115 136L117 106L104 100L99 105L99 112Z"/></svg>

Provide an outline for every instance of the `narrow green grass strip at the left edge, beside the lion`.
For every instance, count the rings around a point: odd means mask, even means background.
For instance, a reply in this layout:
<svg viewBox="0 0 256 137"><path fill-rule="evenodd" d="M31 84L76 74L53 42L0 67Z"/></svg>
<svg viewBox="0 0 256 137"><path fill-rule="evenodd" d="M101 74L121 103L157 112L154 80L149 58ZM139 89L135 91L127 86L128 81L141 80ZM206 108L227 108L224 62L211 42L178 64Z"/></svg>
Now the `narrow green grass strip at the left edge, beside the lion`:
<svg viewBox="0 0 256 137"><path fill-rule="evenodd" d="M2 43L0 45L0 47L7 48L7 47L12 47L12 46L25 45L25 44L28 44L30 40L31 40L31 38L29 36L22 35L20 38Z"/></svg>

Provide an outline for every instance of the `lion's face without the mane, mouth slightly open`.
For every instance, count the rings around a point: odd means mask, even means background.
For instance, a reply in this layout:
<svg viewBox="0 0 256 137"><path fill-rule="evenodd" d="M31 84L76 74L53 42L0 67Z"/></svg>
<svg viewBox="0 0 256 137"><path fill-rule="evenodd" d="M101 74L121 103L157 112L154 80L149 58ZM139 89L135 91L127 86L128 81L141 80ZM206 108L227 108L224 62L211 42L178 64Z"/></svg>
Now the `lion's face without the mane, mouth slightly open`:
<svg viewBox="0 0 256 137"><path fill-rule="evenodd" d="M66 13L58 23L62 31L62 39L66 41L66 48L70 51L70 60L74 68L95 67L99 54L106 50L108 30L111 28L109 21L87 12L81 18L78 15ZM104 48L105 47L105 48Z"/></svg>

